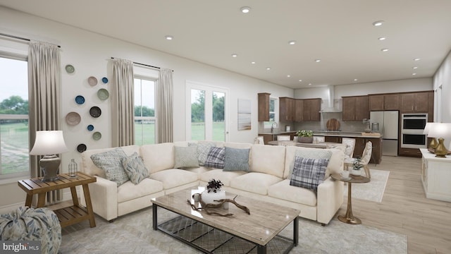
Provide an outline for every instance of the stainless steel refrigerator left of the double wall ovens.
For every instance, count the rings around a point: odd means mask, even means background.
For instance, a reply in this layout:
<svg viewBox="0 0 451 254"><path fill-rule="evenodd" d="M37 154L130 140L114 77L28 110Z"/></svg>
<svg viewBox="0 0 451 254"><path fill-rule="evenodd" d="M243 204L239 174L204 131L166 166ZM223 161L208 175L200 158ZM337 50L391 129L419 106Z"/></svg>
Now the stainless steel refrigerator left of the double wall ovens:
<svg viewBox="0 0 451 254"><path fill-rule="evenodd" d="M378 123L378 132L382 136L382 155L397 156L399 111L371 111L370 123ZM371 127L372 127L371 126Z"/></svg>

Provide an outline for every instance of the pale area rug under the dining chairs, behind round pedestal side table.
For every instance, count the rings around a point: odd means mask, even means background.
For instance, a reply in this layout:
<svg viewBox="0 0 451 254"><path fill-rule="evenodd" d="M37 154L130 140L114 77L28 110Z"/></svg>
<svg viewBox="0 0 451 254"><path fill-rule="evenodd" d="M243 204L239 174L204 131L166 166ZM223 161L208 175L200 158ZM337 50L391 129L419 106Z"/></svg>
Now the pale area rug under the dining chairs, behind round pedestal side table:
<svg viewBox="0 0 451 254"><path fill-rule="evenodd" d="M373 202L382 202L385 186L387 185L390 171L370 169L371 181L369 183L353 183L351 192L352 198L369 200ZM347 196L347 186L344 194Z"/></svg>

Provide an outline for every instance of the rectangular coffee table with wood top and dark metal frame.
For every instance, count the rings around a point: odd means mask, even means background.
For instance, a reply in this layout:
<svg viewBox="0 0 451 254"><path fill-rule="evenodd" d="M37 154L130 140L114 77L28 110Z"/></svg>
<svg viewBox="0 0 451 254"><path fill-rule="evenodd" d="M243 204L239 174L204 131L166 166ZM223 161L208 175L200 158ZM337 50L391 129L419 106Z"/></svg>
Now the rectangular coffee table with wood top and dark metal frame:
<svg viewBox="0 0 451 254"><path fill-rule="evenodd" d="M231 217L209 215L193 210L187 200L199 206L192 199L193 193L202 189L186 189L152 199L153 229L173 236L183 243L204 253L288 253L298 243L299 210L275 205L245 196L235 199L249 208L250 214L229 203L228 210L217 208L221 214L233 213ZM233 199L233 193L226 198ZM158 222L158 210L164 208L179 214L167 222ZM293 238L278 235L293 222Z"/></svg>

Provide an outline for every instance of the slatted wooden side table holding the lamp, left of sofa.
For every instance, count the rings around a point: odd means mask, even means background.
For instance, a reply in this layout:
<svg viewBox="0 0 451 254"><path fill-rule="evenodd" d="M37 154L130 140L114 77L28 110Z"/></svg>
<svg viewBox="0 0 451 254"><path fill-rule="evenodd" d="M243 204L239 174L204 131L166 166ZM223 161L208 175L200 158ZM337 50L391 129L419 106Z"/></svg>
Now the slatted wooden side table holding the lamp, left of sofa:
<svg viewBox="0 0 451 254"><path fill-rule="evenodd" d="M56 181L42 181L39 178L18 181L18 186L27 193L25 205L31 207L33 195L37 194L37 207L44 207L46 193L49 191L70 188L73 206L54 210L60 221L61 227L69 226L89 219L89 226L96 226L94 212L92 210L91 195L89 195L89 183L94 183L97 179L93 176L78 172L77 179L70 179L68 174L58 174ZM75 186L82 186L85 193L86 208L78 203L78 195Z"/></svg>

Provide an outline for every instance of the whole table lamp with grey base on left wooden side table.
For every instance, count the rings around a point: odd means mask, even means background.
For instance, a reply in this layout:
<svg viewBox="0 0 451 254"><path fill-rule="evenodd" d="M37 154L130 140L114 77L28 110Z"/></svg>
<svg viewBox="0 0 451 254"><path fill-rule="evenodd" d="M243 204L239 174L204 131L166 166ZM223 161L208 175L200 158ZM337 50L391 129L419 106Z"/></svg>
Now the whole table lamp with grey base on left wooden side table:
<svg viewBox="0 0 451 254"><path fill-rule="evenodd" d="M61 159L57 154L68 152L64 143L63 131L37 131L35 145L30 155L44 155L39 160L39 166L44 172L42 181L58 180L58 169Z"/></svg>

